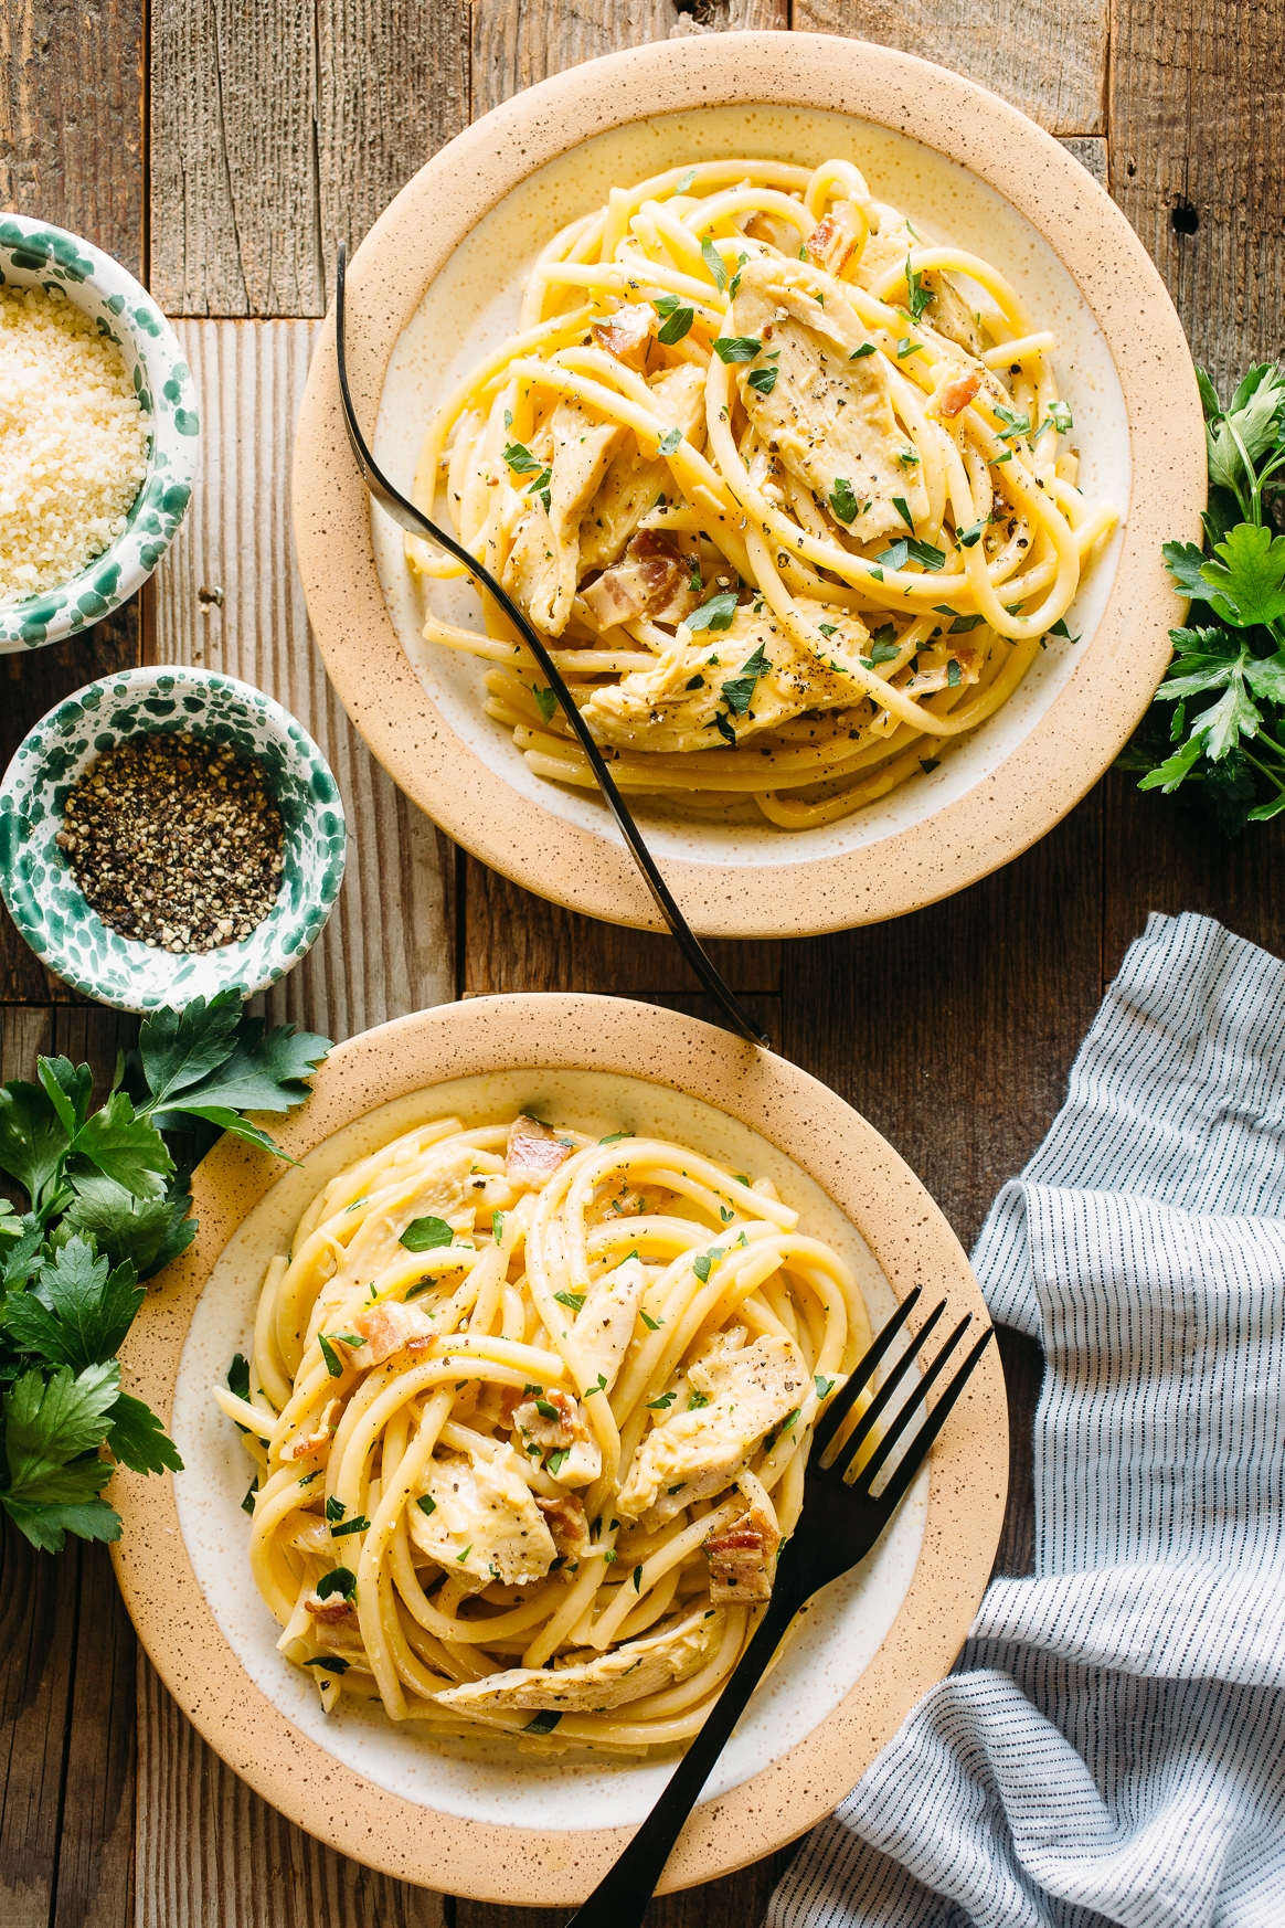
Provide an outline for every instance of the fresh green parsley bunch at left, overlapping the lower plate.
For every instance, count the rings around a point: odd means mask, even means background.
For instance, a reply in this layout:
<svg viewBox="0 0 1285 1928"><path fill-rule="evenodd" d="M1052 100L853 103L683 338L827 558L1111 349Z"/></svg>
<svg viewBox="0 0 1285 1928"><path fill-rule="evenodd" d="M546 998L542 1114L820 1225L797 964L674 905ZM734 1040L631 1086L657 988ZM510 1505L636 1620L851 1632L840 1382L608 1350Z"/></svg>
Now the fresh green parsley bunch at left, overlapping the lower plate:
<svg viewBox="0 0 1285 1928"><path fill-rule="evenodd" d="M100 1498L116 1461L177 1473L173 1440L121 1392L116 1353L143 1280L197 1234L189 1176L222 1132L277 1145L245 1111L289 1111L329 1039L264 1030L235 991L158 1010L89 1109L91 1072L39 1058L39 1084L0 1085L0 1170L27 1193L0 1199L0 1504L33 1546L119 1539Z"/></svg>

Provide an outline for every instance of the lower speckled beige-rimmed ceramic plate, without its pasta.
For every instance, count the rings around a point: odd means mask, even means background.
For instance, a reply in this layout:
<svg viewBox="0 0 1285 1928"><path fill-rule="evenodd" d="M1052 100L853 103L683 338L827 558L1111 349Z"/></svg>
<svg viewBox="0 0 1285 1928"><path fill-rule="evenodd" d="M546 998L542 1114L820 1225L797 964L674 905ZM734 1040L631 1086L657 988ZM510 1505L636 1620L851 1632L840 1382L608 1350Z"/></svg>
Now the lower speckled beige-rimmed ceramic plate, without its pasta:
<svg viewBox="0 0 1285 1928"><path fill-rule="evenodd" d="M584 1899L672 1766L659 1756L453 1739L341 1697L277 1648L249 1564L247 1458L216 1406L252 1352L264 1272L322 1184L437 1118L514 1111L593 1139L655 1136L778 1195L855 1274L871 1323L925 1286L948 1317L986 1319L940 1211L890 1145L832 1091L694 1018L607 997L470 999L339 1045L281 1124L283 1166L220 1139L195 1174L197 1242L148 1290L123 1348L125 1384L164 1419L185 1471L158 1486L118 1471L116 1569L170 1693L266 1801L345 1855L487 1901ZM615 1139L611 1139L615 1141ZM426 1220L428 1222L428 1220ZM915 1315L917 1317L917 1315ZM826 1814L952 1666L986 1587L1004 1517L1008 1409L983 1357L886 1537L796 1623L682 1834L665 1886L707 1882ZM328 1515L337 1517L337 1515ZM543 1731L543 1729L541 1729Z"/></svg>

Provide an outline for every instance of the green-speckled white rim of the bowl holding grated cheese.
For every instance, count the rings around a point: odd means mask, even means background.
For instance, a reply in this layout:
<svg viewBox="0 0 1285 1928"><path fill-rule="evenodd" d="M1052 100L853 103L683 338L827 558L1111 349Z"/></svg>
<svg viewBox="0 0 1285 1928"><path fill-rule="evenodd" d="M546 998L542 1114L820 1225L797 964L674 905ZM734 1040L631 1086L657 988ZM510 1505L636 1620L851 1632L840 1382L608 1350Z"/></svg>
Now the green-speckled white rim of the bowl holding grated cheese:
<svg viewBox="0 0 1285 1928"><path fill-rule="evenodd" d="M118 260L66 228L0 216L0 285L58 287L125 357L152 418L146 478L125 530L69 582L0 605L0 654L37 650L98 623L146 582L179 532L197 472L197 391L173 328Z"/></svg>

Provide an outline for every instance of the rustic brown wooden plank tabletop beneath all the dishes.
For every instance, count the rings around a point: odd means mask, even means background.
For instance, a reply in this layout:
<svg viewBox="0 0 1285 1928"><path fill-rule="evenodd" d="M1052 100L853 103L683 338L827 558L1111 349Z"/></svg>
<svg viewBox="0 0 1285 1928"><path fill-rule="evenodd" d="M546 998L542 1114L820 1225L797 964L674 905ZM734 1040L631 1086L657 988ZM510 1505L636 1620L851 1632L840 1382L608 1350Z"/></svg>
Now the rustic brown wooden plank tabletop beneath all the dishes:
<svg viewBox="0 0 1285 1928"><path fill-rule="evenodd" d="M1065 139L1158 262L1219 380L1281 353L1285 0L8 0L0 202L89 235L177 320L202 478L156 580L83 638L0 667L0 765L56 700L139 659L227 669L318 736L349 873L268 999L339 1039L476 991L618 991L707 1012L663 937L568 916L453 848L326 684L287 526L291 428L331 283L466 120L618 46L811 29L957 67ZM12 708L10 708L12 704ZM1204 910L1285 952L1285 825L1227 844L1108 775L1035 850L932 910L719 945L780 1049L904 1153L965 1245L1044 1136L1075 1047L1148 910ZM131 1020L77 1001L0 929L0 1076L37 1051L110 1072ZM1038 1350L1006 1334L1013 1496L1000 1571L1033 1566ZM0 1567L0 1928L553 1928L561 1913L405 1888L283 1822L202 1745L102 1548ZM651 1907L755 1928L788 1851Z"/></svg>

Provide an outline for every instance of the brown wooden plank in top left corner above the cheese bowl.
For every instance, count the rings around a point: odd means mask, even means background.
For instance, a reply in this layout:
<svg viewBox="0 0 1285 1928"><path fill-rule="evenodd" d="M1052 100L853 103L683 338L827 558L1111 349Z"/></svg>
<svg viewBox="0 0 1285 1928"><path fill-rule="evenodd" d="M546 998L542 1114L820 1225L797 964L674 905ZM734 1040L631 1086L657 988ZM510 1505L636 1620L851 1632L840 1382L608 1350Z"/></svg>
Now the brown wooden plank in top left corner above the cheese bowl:
<svg viewBox="0 0 1285 1928"><path fill-rule="evenodd" d="M144 270L144 0L0 8L0 206Z"/></svg>

